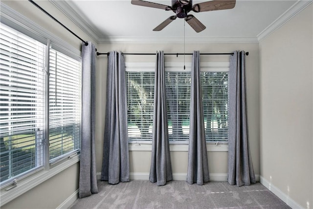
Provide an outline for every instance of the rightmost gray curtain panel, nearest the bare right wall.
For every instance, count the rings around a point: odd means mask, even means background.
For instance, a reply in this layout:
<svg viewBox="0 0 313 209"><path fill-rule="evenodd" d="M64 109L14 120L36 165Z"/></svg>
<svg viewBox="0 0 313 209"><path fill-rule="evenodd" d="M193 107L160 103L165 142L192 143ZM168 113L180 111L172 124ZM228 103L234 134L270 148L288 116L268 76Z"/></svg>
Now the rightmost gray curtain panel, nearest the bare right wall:
<svg viewBox="0 0 313 209"><path fill-rule="evenodd" d="M246 54L234 51L228 74L228 183L255 183L246 116Z"/></svg>

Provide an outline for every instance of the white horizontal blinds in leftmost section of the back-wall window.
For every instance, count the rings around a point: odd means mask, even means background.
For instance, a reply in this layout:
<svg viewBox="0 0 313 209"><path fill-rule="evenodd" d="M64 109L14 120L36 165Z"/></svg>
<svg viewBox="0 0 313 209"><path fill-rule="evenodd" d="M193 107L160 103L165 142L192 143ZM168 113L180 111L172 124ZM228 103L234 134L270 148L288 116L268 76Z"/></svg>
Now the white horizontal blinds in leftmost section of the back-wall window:
<svg viewBox="0 0 313 209"><path fill-rule="evenodd" d="M155 72L127 71L127 108L129 140L151 140Z"/></svg>

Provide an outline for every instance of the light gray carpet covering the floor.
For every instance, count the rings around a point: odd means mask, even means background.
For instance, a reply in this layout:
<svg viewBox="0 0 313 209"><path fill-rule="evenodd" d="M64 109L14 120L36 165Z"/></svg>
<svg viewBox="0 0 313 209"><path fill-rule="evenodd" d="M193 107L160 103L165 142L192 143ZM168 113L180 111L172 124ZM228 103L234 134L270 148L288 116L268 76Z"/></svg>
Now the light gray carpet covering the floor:
<svg viewBox="0 0 313 209"><path fill-rule="evenodd" d="M227 182L199 186L170 181L156 186L141 180L117 185L98 181L98 189L70 209L291 209L260 183L237 187Z"/></svg>

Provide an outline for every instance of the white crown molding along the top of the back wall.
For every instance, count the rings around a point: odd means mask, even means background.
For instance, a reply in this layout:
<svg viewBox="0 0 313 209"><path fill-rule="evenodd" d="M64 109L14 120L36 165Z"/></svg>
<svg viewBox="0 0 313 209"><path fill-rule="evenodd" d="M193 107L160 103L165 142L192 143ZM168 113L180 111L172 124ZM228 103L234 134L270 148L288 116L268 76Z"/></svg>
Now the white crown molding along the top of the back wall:
<svg viewBox="0 0 313 209"><path fill-rule="evenodd" d="M104 37L98 40L98 44L173 44L184 43L183 37ZM186 37L186 44L217 43L217 44L257 44L256 37Z"/></svg>

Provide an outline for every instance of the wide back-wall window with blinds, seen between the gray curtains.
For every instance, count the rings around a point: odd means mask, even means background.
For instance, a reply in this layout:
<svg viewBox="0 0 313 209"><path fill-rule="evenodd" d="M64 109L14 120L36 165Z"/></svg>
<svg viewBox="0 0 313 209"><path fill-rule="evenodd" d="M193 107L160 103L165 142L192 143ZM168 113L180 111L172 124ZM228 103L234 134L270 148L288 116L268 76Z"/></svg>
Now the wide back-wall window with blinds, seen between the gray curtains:
<svg viewBox="0 0 313 209"><path fill-rule="evenodd" d="M142 64L147 65L147 64ZM207 142L227 142L228 65L204 64L201 85L205 137ZM225 66L226 65L226 66ZM223 66L223 67L222 67ZM154 105L154 66L144 68L126 65L129 141L152 139ZM189 70L177 70L165 65L166 99L169 140L187 142L189 139L190 85Z"/></svg>

